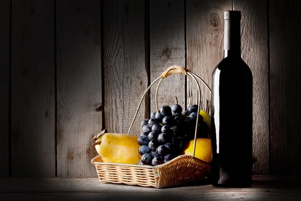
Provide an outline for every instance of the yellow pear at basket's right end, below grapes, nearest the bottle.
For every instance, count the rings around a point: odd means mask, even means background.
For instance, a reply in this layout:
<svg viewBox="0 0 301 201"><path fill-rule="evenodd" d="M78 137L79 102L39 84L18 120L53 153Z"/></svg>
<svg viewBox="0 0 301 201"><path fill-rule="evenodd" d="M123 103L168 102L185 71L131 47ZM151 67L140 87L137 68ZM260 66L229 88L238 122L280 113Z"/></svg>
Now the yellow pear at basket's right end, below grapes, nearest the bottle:
<svg viewBox="0 0 301 201"><path fill-rule="evenodd" d="M185 155L192 156L192 154L193 154L193 145L194 145L194 140L191 140L188 143L187 148L184 150ZM197 138L195 157L199 158L199 159L201 159L201 160L203 160L207 163L211 163L211 160L212 160L211 139Z"/></svg>

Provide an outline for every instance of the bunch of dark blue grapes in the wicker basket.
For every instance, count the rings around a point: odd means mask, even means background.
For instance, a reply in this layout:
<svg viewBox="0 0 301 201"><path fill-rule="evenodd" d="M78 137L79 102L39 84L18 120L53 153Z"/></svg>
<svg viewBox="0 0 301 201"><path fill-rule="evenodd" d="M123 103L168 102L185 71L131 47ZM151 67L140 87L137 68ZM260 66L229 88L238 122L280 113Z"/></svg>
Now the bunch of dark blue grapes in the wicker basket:
<svg viewBox="0 0 301 201"><path fill-rule="evenodd" d="M182 155L187 143L194 139L198 106L182 111L178 104L162 106L141 122L142 132L137 140L141 155L138 164L156 166ZM197 137L207 137L207 132L207 125L199 115Z"/></svg>

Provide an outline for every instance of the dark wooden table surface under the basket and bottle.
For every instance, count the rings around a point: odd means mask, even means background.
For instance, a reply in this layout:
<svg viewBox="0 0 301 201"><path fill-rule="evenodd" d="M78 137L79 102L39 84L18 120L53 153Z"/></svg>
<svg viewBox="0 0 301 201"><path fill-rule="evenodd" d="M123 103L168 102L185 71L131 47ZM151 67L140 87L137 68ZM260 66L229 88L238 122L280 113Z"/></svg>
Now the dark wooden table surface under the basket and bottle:
<svg viewBox="0 0 301 201"><path fill-rule="evenodd" d="M211 185L157 189L98 178L0 179L0 200L301 200L301 178L254 176L250 188Z"/></svg>

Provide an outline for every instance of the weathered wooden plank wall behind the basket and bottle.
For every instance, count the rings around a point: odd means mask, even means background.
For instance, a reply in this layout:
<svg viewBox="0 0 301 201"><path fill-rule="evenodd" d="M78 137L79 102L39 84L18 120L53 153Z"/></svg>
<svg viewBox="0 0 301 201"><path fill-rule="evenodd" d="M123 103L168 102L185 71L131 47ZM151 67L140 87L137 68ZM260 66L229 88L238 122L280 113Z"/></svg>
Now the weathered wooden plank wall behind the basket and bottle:
<svg viewBox="0 0 301 201"><path fill-rule="evenodd" d="M126 133L163 70L187 66L211 85L223 57L223 12L232 9L242 11L242 58L253 72L253 174L300 175L300 7L294 0L1 1L0 177L95 177L91 138L104 128ZM155 89L131 134L156 110ZM175 95L183 107L197 103L195 83L182 75L162 82L159 106Z"/></svg>

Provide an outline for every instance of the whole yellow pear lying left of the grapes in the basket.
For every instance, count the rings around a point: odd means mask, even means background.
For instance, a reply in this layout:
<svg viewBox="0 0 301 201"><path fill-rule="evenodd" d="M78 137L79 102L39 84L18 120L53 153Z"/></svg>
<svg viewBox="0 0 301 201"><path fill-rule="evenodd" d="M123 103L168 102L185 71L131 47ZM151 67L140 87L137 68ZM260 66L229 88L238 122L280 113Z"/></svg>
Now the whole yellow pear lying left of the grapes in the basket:
<svg viewBox="0 0 301 201"><path fill-rule="evenodd" d="M104 133L95 141L95 149L103 162L138 164L138 137L119 133Z"/></svg>

